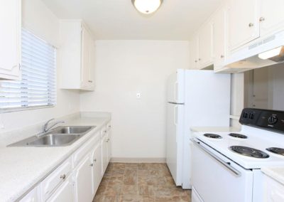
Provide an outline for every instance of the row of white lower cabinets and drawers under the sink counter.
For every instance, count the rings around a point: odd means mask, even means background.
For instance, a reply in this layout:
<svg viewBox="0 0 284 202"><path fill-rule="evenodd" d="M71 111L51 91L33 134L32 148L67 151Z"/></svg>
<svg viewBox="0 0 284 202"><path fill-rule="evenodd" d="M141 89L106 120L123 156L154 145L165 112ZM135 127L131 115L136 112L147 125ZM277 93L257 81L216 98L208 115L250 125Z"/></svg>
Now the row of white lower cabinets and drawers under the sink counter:
<svg viewBox="0 0 284 202"><path fill-rule="evenodd" d="M110 123L60 164L21 202L92 202L111 158Z"/></svg>

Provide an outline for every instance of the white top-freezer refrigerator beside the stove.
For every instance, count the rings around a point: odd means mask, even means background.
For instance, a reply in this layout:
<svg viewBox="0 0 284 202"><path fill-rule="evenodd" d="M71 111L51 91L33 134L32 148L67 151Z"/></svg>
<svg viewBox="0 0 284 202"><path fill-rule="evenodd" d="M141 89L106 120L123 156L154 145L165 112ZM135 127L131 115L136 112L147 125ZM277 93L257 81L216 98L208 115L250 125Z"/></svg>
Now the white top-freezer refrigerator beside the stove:
<svg viewBox="0 0 284 202"><path fill-rule="evenodd" d="M231 75L178 69L167 85L166 162L175 184L187 189L190 127L229 127Z"/></svg>

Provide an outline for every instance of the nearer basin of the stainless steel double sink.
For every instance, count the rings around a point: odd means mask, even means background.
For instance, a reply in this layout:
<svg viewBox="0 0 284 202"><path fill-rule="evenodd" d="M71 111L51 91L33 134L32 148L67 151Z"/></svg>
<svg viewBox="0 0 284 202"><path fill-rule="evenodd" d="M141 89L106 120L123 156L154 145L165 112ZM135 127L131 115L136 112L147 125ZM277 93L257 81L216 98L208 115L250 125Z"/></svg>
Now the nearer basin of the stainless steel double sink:
<svg viewBox="0 0 284 202"><path fill-rule="evenodd" d="M63 134L47 134L43 137L38 138L37 140L33 142L29 142L28 145L31 146L50 146L50 147L56 147L56 146L64 146L69 145L75 142L77 139L79 139L81 136L80 134L74 135L63 135Z"/></svg>

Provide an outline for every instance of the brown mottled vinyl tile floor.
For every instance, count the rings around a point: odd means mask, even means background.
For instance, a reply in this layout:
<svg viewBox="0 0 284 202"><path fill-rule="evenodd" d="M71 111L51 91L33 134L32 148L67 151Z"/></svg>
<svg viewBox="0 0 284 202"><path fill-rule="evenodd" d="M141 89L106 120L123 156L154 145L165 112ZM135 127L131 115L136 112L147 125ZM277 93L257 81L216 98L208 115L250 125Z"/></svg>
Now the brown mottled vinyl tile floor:
<svg viewBox="0 0 284 202"><path fill-rule="evenodd" d="M166 164L110 163L93 202L190 202L191 191L175 186Z"/></svg>

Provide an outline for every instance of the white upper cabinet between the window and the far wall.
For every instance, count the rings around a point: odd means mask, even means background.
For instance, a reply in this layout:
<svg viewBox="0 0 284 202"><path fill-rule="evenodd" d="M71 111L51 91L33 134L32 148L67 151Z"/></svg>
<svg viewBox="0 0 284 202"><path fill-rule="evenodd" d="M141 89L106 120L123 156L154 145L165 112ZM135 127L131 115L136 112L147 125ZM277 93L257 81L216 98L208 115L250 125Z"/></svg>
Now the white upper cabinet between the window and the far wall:
<svg viewBox="0 0 284 202"><path fill-rule="evenodd" d="M82 21L60 21L60 56L60 87L94 90L94 40Z"/></svg>

